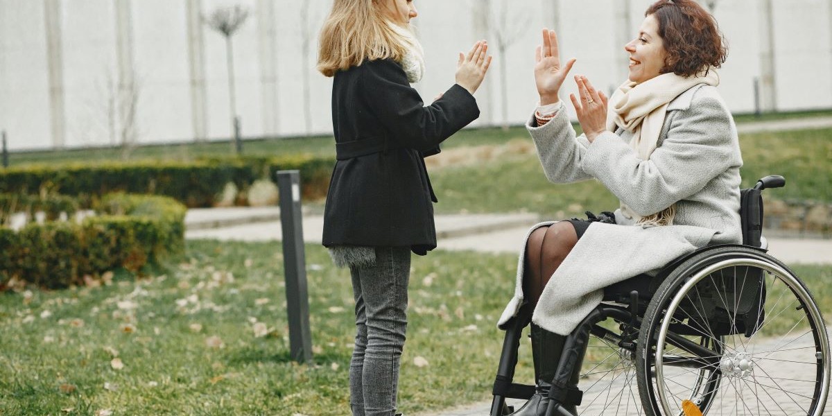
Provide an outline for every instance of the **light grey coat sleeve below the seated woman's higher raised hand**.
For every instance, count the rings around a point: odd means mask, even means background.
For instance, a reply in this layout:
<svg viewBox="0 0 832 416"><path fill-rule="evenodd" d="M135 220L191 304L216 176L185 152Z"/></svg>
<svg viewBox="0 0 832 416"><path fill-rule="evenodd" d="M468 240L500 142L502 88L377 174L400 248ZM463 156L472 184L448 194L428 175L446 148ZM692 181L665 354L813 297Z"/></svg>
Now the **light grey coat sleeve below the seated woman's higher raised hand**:
<svg viewBox="0 0 832 416"><path fill-rule="evenodd" d="M526 129L532 135L543 173L549 181L570 183L592 177L581 167L589 141L584 135L575 136L575 129L569 122L562 101L551 121L538 127L532 114L526 123Z"/></svg>

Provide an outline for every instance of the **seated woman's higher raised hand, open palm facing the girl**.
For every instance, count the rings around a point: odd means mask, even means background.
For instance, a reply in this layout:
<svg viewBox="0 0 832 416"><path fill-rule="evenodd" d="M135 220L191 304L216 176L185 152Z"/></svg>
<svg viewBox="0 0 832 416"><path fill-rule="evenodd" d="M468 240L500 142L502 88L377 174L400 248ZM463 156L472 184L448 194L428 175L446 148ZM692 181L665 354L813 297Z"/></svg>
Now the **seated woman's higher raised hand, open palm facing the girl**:
<svg viewBox="0 0 832 416"><path fill-rule="evenodd" d="M534 81L537 83L537 93L540 94L540 104L545 106L558 102L557 92L569 70L575 64L575 58L561 65L561 58L557 51L557 35L555 31L543 29L543 44L537 47L535 54Z"/></svg>

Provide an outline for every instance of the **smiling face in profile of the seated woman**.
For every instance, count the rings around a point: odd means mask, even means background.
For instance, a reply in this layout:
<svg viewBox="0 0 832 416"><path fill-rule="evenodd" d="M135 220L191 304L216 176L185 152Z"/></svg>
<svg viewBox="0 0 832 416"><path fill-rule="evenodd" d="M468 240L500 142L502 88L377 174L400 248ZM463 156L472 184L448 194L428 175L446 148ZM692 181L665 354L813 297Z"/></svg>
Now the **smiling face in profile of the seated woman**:
<svg viewBox="0 0 832 416"><path fill-rule="evenodd" d="M641 84L661 75L667 52L659 36L659 22L655 16L649 15L644 19L638 37L627 43L624 50L630 53L630 81Z"/></svg>

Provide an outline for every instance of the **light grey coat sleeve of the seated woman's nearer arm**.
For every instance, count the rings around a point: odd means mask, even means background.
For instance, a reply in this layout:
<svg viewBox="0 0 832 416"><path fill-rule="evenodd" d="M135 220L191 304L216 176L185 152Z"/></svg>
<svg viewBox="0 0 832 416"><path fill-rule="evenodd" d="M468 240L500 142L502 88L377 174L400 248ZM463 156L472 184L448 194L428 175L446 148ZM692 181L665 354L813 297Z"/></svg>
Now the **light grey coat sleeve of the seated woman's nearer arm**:
<svg viewBox="0 0 832 416"><path fill-rule="evenodd" d="M677 111L650 159L642 161L620 137L604 133L582 161L585 171L638 215L664 210L742 165L735 128L721 102L704 97Z"/></svg>

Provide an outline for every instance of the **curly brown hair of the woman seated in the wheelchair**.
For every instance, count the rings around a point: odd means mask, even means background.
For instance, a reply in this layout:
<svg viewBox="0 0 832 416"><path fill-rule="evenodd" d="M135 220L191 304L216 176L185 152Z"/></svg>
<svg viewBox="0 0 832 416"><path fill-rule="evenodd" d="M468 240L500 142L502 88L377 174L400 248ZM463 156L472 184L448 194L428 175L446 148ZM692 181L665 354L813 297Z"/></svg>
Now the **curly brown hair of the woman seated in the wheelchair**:
<svg viewBox="0 0 832 416"><path fill-rule="evenodd" d="M711 13L694 0L659 0L644 15L653 15L659 22L667 52L661 73L690 77L726 62L725 37Z"/></svg>

